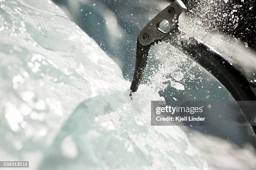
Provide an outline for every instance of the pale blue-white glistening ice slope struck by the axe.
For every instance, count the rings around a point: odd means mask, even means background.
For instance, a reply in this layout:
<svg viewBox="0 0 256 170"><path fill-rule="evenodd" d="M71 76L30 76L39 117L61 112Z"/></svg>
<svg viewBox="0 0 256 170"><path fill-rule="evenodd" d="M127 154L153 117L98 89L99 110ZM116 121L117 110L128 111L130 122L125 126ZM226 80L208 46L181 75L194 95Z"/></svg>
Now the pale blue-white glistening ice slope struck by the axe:
<svg viewBox="0 0 256 170"><path fill-rule="evenodd" d="M158 91L140 86L131 101L117 64L51 1L0 0L0 37L1 160L29 160L30 170L208 168L182 129L151 126Z"/></svg>

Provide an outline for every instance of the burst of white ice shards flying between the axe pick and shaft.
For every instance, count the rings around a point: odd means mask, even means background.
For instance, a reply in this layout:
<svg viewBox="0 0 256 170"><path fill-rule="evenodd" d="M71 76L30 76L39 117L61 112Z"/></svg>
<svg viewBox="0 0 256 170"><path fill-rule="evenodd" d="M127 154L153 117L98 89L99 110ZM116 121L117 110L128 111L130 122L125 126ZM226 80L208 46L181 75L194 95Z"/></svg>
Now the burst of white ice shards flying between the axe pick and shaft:
<svg viewBox="0 0 256 170"><path fill-rule="evenodd" d="M171 86L184 90L184 85L181 83L175 83L175 81L184 80L185 74L190 74L193 77L193 73L190 72L195 67L195 62L191 61L184 53L177 48L171 46L170 43L160 42L151 46L148 57L148 66L146 77L148 84L157 90L166 89L169 84L167 81L171 81ZM151 73L148 73L150 72ZM170 79L172 77L172 79ZM194 76L195 78L195 76Z"/></svg>

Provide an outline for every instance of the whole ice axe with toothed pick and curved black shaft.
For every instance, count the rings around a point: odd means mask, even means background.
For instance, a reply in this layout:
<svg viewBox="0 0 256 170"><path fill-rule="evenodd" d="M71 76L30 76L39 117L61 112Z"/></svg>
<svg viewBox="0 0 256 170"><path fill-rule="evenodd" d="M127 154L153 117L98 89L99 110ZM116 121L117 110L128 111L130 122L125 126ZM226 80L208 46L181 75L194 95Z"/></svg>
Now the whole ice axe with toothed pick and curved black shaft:
<svg viewBox="0 0 256 170"><path fill-rule="evenodd" d="M228 62L214 48L203 41L186 35L178 27L179 15L187 8L181 0L172 0L172 3L153 18L139 33L136 49L136 66L131 83L131 92L136 92L141 83L146 67L150 46L158 41L169 42L192 57L197 63L212 74L229 91L236 101L256 100L256 82L248 81L235 66ZM168 32L159 29L163 20L170 25ZM130 94L131 96L132 94ZM248 120L253 120L255 114L244 113ZM256 128L253 128L256 131Z"/></svg>

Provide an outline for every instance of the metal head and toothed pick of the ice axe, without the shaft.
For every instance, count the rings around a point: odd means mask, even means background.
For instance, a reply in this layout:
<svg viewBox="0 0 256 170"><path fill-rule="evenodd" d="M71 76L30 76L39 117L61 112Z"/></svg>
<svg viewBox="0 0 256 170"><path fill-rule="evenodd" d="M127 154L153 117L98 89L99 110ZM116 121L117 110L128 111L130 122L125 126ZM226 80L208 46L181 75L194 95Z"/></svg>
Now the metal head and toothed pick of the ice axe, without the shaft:
<svg viewBox="0 0 256 170"><path fill-rule="evenodd" d="M156 15L156 17L141 30L137 40L136 66L130 88L131 92L136 92L141 83L150 46L177 30L179 15L186 10L187 8L181 0L173 0L168 7ZM166 32L160 29L160 23L164 20L169 22L170 29Z"/></svg>

